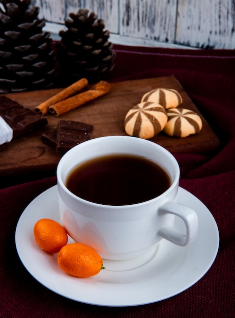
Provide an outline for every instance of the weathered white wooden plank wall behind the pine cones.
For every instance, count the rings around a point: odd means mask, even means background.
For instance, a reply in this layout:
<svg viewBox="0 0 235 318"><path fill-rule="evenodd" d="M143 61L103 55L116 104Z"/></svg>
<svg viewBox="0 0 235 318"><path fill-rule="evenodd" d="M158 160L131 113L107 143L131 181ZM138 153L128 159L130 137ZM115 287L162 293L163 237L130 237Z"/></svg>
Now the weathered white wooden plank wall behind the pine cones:
<svg viewBox="0 0 235 318"><path fill-rule="evenodd" d="M58 37L70 12L94 11L117 44L235 49L234 0L32 0Z"/></svg>

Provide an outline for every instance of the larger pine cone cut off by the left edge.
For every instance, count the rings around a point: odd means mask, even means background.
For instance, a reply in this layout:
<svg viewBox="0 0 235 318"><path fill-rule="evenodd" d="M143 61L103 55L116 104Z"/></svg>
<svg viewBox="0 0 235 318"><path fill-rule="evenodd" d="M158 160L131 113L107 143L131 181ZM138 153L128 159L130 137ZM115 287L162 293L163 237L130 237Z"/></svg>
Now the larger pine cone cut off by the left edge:
<svg viewBox="0 0 235 318"><path fill-rule="evenodd" d="M0 0L0 93L47 88L55 76L55 53L44 20L31 0Z"/></svg>

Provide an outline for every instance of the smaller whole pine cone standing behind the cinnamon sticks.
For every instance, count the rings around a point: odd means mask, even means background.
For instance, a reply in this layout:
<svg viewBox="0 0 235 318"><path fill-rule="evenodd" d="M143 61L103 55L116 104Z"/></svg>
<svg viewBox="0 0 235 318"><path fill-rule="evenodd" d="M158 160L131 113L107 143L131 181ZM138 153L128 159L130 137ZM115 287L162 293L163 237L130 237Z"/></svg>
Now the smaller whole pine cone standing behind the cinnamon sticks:
<svg viewBox="0 0 235 318"><path fill-rule="evenodd" d="M56 47L63 77L71 82L82 77L90 82L104 78L113 69L115 52L103 20L86 9L69 16L65 21L68 29L60 31L62 40Z"/></svg>

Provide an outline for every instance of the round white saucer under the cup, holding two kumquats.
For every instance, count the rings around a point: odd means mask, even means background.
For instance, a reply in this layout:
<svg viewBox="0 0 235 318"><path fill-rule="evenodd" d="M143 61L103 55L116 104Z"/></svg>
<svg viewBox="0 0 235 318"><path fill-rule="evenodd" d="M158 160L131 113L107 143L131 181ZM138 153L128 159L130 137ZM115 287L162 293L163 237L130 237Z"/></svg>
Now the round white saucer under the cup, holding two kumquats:
<svg viewBox="0 0 235 318"><path fill-rule="evenodd" d="M57 255L44 252L34 240L38 219L59 220L56 185L34 199L20 216L16 248L26 269L45 287L66 298L102 306L157 302L197 282L212 266L219 247L218 228L207 207L183 188L179 188L176 201L192 207L198 215L198 236L190 245L180 247L163 240L152 253L136 260L104 260L106 269L93 277L67 275L58 267ZM180 230L182 221L175 222Z"/></svg>

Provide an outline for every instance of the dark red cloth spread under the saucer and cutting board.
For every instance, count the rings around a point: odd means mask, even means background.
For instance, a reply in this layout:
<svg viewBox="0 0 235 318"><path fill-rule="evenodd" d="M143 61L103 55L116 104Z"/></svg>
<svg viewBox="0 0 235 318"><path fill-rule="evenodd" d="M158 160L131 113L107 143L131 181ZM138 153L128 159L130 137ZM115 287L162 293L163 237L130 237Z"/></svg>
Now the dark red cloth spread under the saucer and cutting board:
<svg viewBox="0 0 235 318"><path fill-rule="evenodd" d="M27 272L14 241L23 209L54 185L55 177L4 188L0 190L0 316L234 317L235 51L117 45L114 49L115 68L110 81L174 75L220 138L221 147L212 153L175 154L182 172L180 185L200 199L216 219L220 232L218 256L191 288L161 302L112 308L71 301L49 291Z"/></svg>

